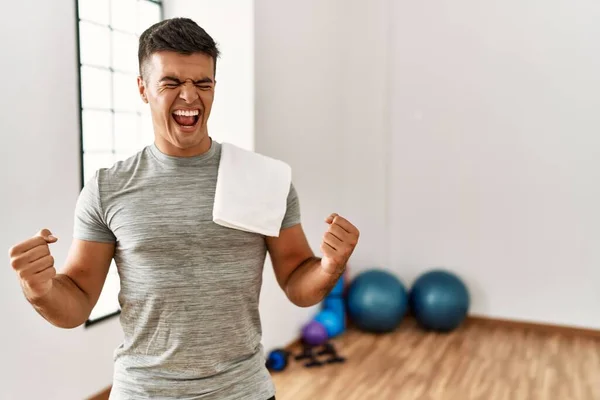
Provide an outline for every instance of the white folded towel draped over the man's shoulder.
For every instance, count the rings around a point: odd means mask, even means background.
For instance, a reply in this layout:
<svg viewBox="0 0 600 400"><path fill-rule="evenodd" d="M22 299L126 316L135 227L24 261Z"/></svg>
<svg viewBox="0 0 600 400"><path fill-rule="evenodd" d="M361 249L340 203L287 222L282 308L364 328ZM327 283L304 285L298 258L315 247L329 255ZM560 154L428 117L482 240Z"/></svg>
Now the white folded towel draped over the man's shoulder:
<svg viewBox="0 0 600 400"><path fill-rule="evenodd" d="M291 181L292 169L283 161L222 143L213 221L228 228L279 236Z"/></svg>

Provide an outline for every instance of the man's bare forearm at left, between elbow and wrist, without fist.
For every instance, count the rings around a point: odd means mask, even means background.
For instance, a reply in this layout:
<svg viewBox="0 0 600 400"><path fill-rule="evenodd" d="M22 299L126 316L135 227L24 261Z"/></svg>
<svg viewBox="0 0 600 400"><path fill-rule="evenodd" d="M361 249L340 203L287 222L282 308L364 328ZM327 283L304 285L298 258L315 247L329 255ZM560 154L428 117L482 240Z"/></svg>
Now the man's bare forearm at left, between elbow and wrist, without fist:
<svg viewBox="0 0 600 400"><path fill-rule="evenodd" d="M64 274L52 279L52 289L40 298L32 298L24 290L33 308L48 322L60 328L75 328L90 315L91 306L87 295Z"/></svg>

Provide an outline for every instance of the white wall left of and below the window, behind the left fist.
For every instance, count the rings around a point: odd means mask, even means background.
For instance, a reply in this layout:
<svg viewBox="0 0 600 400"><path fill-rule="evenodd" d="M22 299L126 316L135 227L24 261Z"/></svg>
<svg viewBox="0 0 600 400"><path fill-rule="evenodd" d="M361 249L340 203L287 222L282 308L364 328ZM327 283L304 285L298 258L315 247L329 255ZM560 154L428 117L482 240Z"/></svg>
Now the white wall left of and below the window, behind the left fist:
<svg viewBox="0 0 600 400"><path fill-rule="evenodd" d="M8 249L48 227L62 265L79 193L75 2L11 2L0 25L0 399L83 399L112 380L122 332L116 319L89 329L51 326L27 303ZM8 10L7 10L8 11ZM8 39L8 38L17 38Z"/></svg>

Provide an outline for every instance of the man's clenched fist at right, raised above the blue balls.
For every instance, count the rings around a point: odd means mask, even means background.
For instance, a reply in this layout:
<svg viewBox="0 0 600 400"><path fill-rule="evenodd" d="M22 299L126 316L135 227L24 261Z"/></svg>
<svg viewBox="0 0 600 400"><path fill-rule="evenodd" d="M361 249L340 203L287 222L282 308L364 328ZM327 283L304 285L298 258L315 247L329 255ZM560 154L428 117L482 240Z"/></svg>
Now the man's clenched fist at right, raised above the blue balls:
<svg viewBox="0 0 600 400"><path fill-rule="evenodd" d="M331 214L325 219L329 224L327 232L323 235L321 251L322 268L330 273L339 273L346 267L348 259L354 252L358 243L359 231L347 219L338 214Z"/></svg>

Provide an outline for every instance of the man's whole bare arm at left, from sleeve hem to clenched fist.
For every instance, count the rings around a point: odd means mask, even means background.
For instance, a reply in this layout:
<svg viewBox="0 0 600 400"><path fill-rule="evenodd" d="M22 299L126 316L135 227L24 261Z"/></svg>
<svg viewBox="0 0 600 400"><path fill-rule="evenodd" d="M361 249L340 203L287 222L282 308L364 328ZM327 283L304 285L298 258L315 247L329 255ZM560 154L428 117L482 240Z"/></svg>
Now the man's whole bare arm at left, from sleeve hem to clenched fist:
<svg viewBox="0 0 600 400"><path fill-rule="evenodd" d="M115 244L74 239L65 266L57 274L49 244L56 242L44 229L11 248L11 266L23 293L35 310L61 328L83 324L96 305Z"/></svg>

